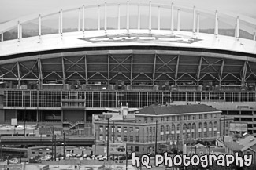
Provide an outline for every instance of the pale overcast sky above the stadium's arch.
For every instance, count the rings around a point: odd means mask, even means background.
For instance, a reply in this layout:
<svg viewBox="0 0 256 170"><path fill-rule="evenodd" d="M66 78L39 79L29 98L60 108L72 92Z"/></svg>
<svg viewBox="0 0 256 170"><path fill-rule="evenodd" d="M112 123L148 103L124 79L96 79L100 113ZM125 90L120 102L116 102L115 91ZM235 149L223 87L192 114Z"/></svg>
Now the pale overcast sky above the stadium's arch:
<svg viewBox="0 0 256 170"><path fill-rule="evenodd" d="M0 0L0 22L13 20L20 16L43 13L48 10L69 8L83 4L95 4L104 0ZM110 0L106 2L127 2L124 0ZM130 0L132 2L149 2L149 0ZM256 19L256 0L152 0L152 2L175 5L196 6L200 9L231 11L241 13ZM108 13L111 13L109 11Z"/></svg>

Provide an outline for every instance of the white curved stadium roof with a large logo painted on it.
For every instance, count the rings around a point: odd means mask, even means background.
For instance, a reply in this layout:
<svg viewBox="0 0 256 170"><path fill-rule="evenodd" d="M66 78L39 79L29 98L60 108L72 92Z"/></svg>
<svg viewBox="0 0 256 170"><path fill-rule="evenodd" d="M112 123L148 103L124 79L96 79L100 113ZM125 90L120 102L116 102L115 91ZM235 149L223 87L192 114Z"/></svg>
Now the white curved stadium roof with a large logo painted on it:
<svg viewBox="0 0 256 170"><path fill-rule="evenodd" d="M256 54L256 41L223 35L203 34L187 31L174 31L173 36L170 31L148 30L109 30L105 31L85 31L61 34L43 35L39 37L22 38L0 42L0 57L27 52L39 52L54 49L71 49L86 47L104 46L166 46L184 47L199 49L219 49L232 52L245 52Z"/></svg>

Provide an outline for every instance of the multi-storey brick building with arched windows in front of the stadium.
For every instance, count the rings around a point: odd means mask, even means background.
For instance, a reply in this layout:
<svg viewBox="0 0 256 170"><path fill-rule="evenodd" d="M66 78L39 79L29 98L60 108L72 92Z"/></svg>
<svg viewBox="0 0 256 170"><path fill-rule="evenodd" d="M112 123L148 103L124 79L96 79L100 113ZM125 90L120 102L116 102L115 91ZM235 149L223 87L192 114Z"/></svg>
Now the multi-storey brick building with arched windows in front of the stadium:
<svg viewBox="0 0 256 170"><path fill-rule="evenodd" d="M193 139L214 140L220 134L221 111L202 104L151 105L135 118L95 121L96 143L127 143L138 154L157 152L162 143L174 145ZM109 134L109 135L108 135Z"/></svg>

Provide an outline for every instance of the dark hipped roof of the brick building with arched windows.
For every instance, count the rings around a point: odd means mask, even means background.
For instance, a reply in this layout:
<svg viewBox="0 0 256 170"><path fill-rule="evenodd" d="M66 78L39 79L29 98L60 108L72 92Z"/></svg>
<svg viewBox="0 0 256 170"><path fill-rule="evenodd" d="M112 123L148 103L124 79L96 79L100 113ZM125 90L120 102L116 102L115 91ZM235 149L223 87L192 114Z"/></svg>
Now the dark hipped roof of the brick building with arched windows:
<svg viewBox="0 0 256 170"><path fill-rule="evenodd" d="M221 112L213 107L209 107L204 104L191 104L191 105L170 105L170 106L159 106L151 105L139 110L139 114L189 114L189 113L202 113L202 112Z"/></svg>

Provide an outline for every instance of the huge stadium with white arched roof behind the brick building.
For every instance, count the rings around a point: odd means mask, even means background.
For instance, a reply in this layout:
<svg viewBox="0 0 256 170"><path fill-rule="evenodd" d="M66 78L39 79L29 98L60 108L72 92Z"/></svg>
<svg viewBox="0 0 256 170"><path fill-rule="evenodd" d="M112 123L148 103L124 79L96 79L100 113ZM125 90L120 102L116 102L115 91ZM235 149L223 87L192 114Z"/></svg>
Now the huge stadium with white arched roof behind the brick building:
<svg viewBox="0 0 256 170"><path fill-rule="evenodd" d="M69 15L74 29L65 28ZM46 32L48 18L56 30ZM201 29L202 19L212 27ZM255 24L249 16L153 2L95 2L0 24L0 123L92 136L93 114L204 103L256 134Z"/></svg>

